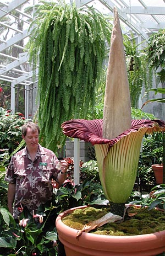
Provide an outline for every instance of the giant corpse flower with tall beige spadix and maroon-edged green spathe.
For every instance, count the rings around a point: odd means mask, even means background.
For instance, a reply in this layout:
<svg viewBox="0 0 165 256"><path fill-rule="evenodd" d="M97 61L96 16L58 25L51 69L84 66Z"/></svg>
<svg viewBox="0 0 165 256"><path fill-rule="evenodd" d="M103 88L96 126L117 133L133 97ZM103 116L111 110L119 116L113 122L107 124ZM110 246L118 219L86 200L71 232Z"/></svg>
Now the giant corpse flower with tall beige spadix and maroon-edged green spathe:
<svg viewBox="0 0 165 256"><path fill-rule="evenodd" d="M95 145L103 190L111 212L122 215L136 179L142 137L165 130L162 120L131 120L124 46L117 9L107 69L103 120L73 119L62 124L65 135ZM122 206L122 207L121 207Z"/></svg>

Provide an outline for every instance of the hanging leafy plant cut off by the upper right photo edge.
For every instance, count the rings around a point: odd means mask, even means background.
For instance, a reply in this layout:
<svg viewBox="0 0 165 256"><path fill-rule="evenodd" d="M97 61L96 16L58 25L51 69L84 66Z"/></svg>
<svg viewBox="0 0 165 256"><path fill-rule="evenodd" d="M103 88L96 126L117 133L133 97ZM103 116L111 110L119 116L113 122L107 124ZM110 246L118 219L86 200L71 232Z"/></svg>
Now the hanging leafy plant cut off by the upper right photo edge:
<svg viewBox="0 0 165 256"><path fill-rule="evenodd" d="M147 61L155 71L160 67L162 70L157 72L158 82L165 81L165 29L154 33L149 37L146 48Z"/></svg>

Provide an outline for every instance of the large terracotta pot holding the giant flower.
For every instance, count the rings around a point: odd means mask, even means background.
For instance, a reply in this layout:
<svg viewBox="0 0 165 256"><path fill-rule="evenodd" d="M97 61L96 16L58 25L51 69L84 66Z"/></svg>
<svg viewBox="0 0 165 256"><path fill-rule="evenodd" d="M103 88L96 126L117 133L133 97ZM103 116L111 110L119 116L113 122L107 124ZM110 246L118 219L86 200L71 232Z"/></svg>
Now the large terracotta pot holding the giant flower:
<svg viewBox="0 0 165 256"><path fill-rule="evenodd" d="M80 206L58 215L56 228L59 240L64 244L67 256L152 256L165 251L165 231L139 236L106 236L83 233L77 239L77 230L66 226L62 218Z"/></svg>

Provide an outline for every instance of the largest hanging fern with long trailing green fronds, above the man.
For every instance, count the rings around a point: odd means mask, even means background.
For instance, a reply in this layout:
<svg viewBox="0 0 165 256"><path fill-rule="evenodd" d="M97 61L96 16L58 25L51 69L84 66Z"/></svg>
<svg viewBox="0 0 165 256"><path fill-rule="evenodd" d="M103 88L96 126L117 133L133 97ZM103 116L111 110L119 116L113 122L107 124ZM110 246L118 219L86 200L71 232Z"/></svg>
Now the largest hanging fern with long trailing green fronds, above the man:
<svg viewBox="0 0 165 256"><path fill-rule="evenodd" d="M30 61L39 65L40 140L55 152L65 142L62 122L86 118L95 103L112 25L92 7L40 2L28 47Z"/></svg>

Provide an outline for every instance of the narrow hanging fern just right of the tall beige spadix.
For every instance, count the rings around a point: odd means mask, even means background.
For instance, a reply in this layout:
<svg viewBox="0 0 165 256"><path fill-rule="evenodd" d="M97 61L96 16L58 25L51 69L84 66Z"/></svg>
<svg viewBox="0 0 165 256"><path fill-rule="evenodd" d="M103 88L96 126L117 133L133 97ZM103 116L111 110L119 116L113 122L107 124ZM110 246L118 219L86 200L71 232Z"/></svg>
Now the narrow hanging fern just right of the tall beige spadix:
<svg viewBox="0 0 165 256"><path fill-rule="evenodd" d="M146 53L139 51L138 46L133 35L131 39L124 36L131 106L134 108L138 107L142 87L144 86L146 95L152 87L152 68L147 65Z"/></svg>

